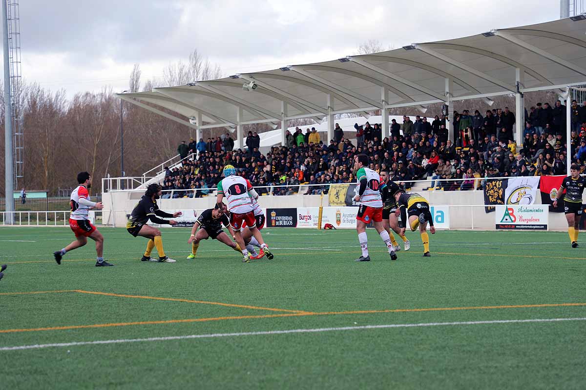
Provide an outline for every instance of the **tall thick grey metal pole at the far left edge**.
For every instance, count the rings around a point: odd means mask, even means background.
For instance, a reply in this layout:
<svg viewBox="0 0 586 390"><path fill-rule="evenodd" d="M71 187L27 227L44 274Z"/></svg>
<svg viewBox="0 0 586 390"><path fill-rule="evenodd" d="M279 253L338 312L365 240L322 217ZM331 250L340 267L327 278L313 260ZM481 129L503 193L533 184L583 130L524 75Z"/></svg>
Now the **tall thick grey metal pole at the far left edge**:
<svg viewBox="0 0 586 390"><path fill-rule="evenodd" d="M14 223L14 167L12 165L12 104L10 99L10 64L8 56L8 9L6 0L2 0L2 31L4 32L4 162L6 188L6 216L5 223Z"/></svg>

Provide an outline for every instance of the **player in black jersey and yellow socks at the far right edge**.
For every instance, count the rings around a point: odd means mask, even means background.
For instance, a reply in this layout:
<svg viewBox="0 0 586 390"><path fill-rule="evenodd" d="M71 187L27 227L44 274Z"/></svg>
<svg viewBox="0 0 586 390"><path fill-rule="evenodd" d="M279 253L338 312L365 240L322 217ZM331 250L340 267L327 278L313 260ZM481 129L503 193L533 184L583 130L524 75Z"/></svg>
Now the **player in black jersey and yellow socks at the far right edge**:
<svg viewBox="0 0 586 390"><path fill-rule="evenodd" d="M586 179L580 176L580 165L572 164L570 166L570 176L561 182L561 187L556 195L553 206L557 207L558 199L564 195L564 212L565 219L568 220L568 235L572 247L578 247L578 232L580 232L580 217L582 216L582 192L586 185Z"/></svg>

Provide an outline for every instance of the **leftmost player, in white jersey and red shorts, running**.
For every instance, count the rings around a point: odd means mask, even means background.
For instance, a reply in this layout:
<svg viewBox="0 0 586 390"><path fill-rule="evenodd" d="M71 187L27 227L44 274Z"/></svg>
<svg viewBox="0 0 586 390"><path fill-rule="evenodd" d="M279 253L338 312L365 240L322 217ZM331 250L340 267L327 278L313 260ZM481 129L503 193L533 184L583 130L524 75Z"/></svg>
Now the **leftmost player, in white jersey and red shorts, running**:
<svg viewBox="0 0 586 390"><path fill-rule="evenodd" d="M77 174L77 183L79 184L76 189L71 192L70 204L71 204L71 215L69 216L69 227L73 230L76 240L71 242L68 246L62 250L53 252L55 261L57 264L61 264L61 259L64 254L70 250L74 250L79 247L83 247L87 244L87 237L96 241L96 267L110 267L114 264L110 264L104 261L104 236L96 229L96 226L92 225L88 217L88 212L91 209L101 210L104 208L101 202L91 202L88 188L91 188L91 176L88 172L79 172Z"/></svg>

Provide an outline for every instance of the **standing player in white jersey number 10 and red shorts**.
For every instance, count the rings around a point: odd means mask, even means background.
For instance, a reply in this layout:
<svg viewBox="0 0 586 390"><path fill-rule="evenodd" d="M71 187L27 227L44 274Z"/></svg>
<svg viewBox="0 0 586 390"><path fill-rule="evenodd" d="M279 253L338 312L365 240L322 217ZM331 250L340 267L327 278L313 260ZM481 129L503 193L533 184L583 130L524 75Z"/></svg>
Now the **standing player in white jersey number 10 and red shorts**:
<svg viewBox="0 0 586 390"><path fill-rule="evenodd" d="M359 154L354 159L354 169L360 186L358 194L354 197L356 202L360 202L358 214L356 215L356 232L358 232L358 241L360 242L360 249L362 249L362 256L357 258L356 261L370 261L366 225L371 219L374 222L374 229L379 232L380 238L383 239L387 249L389 249L391 260L397 260L397 254L393 250L389 232L384 229L383 224L383 200L380 191L386 187L386 184L381 182L377 172L367 167L368 163L366 154Z"/></svg>

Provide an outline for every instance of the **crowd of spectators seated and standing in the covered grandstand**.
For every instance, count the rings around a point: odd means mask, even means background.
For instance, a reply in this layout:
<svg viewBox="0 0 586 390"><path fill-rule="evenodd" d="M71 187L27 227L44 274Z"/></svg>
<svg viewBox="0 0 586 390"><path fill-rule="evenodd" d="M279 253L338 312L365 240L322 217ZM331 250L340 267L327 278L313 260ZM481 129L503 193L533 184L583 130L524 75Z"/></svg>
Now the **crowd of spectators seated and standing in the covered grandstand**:
<svg viewBox="0 0 586 390"><path fill-rule="evenodd" d="M570 153L573 161L586 161L586 102L572 103ZM370 168L389 171L391 180L411 187L411 182L430 177L431 187L444 190L478 188L479 177L514 177L557 175L566 172L567 142L565 140L565 106L557 101L554 106L537 103L525 112L524 138L513 140L515 113L493 109L482 115L478 110L454 111L452 117L454 142L448 139L446 119L437 115L431 122L420 116L404 116L403 123L392 120L389 136L383 137L379 123L355 125L352 140L346 138L336 123L334 139L321 140L315 128L303 133L287 130L285 146L271 147L260 153L260 137L248 132L247 149L234 150L230 134L207 141L190 139L178 147L178 153L197 158L186 160L183 167L166 170L163 189L175 190L173 196L199 197L213 190L222 179L224 165L236 167L260 194L289 195L306 187L304 194L327 192L329 184L352 183L353 160L356 154L370 158ZM443 181L442 179L454 179ZM288 187L286 187L288 186ZM197 191L185 191L196 189ZM166 193L163 197L169 197Z"/></svg>

